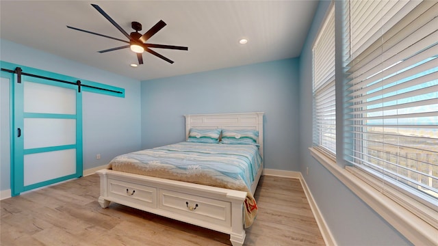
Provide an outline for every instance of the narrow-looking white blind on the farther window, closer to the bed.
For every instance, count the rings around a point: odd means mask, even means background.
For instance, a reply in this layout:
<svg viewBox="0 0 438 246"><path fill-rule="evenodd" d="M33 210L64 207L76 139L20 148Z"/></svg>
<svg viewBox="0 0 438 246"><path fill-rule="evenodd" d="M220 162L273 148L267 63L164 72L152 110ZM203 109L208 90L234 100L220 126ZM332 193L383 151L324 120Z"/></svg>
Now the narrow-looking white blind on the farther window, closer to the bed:
<svg viewBox="0 0 438 246"><path fill-rule="evenodd" d="M313 45L313 146L336 153L335 11L329 10Z"/></svg>

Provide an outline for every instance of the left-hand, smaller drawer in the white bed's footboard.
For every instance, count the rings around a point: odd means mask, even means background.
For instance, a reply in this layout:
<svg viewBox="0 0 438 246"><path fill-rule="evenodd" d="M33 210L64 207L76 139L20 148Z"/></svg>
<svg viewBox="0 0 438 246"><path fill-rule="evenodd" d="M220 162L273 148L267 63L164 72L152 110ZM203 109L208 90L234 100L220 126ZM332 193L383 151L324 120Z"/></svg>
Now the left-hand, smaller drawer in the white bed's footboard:
<svg viewBox="0 0 438 246"><path fill-rule="evenodd" d="M118 202L120 204L132 206L131 204L133 203L140 206L156 208L156 194L157 189L155 187L148 187L142 184L125 182L122 180L108 179L108 196L117 198L118 200L123 200L124 202Z"/></svg>

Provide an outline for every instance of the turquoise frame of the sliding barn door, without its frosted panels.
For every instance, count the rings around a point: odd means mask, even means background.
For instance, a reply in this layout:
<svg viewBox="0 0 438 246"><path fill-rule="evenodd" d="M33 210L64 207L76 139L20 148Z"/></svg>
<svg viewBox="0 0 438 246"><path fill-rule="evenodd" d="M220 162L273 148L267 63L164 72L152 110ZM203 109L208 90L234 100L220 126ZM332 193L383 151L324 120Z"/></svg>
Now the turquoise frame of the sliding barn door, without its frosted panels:
<svg viewBox="0 0 438 246"><path fill-rule="evenodd" d="M76 95L76 113L75 114L60 114L60 113L29 113L24 111L24 84L27 82L41 83L44 85L52 85L57 87L64 87L71 90L75 90ZM79 178L83 172L83 159L82 159L82 94L78 92L76 85L70 85L65 83L57 83L55 81L49 81L46 79L21 76L21 83L17 82L17 75L14 74L12 81L12 96L13 96L13 127L12 127L12 140L13 140L13 163L11 173L11 191L12 196L19 195L23 191L29 191L38 187L43 187L48 184L68 180L70 178ZM74 119L76 122L76 142L75 144L63 145L63 146L47 146L44 148L31 148L25 149L25 128L24 121L26 118L41 118L41 119ZM26 154L37 154L42 152L51 152L57 150L75 149L76 152L76 172L68 176L62 176L53 178L50 180L44 180L35 184L25 185L24 181L24 157ZM49 170L48 170L49 171Z"/></svg>

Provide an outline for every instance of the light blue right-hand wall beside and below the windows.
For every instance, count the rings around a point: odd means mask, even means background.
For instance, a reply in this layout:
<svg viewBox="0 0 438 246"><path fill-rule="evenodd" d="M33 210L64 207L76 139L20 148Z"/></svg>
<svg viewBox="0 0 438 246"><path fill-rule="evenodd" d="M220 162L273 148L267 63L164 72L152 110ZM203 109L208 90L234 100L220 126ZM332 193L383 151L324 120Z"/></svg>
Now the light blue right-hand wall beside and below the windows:
<svg viewBox="0 0 438 246"><path fill-rule="evenodd" d="M300 172L339 245L411 245L310 155L312 145L311 46L331 1L320 1L300 55ZM337 51L337 53L342 51Z"/></svg>

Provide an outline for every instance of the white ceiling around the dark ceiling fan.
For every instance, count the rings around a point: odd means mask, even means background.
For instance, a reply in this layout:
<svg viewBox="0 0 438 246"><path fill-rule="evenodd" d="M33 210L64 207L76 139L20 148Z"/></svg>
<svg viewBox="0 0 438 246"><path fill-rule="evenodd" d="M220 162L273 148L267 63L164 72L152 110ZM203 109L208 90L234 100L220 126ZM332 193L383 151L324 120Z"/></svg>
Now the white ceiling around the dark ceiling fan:
<svg viewBox="0 0 438 246"><path fill-rule="evenodd" d="M127 40L90 3L99 5L127 33L131 21L145 33L167 23L148 40L188 46L188 51L153 49L174 64L143 53L144 64L126 45L66 25ZM318 1L0 1L0 38L53 53L140 81L263 61L298 57ZM248 39L245 45L241 38Z"/></svg>

